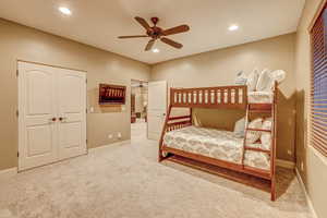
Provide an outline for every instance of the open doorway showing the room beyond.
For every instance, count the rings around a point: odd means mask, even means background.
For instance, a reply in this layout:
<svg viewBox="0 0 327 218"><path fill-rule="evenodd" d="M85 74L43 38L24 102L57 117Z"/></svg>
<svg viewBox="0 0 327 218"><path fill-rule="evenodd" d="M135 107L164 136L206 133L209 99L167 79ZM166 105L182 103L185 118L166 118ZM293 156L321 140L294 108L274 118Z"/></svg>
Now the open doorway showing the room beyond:
<svg viewBox="0 0 327 218"><path fill-rule="evenodd" d="M131 138L145 140L147 137L147 104L148 83L131 81Z"/></svg>

